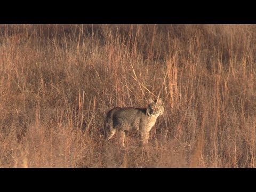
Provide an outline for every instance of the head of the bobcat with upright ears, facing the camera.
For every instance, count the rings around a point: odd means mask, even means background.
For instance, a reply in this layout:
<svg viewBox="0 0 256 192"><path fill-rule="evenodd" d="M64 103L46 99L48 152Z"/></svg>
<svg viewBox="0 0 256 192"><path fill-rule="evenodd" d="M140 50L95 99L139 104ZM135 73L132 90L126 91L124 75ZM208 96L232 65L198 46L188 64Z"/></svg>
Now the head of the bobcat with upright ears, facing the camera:
<svg viewBox="0 0 256 192"><path fill-rule="evenodd" d="M158 101L153 101L153 99L148 100L147 114L148 115L163 115L164 113L164 103L162 99L158 99Z"/></svg>

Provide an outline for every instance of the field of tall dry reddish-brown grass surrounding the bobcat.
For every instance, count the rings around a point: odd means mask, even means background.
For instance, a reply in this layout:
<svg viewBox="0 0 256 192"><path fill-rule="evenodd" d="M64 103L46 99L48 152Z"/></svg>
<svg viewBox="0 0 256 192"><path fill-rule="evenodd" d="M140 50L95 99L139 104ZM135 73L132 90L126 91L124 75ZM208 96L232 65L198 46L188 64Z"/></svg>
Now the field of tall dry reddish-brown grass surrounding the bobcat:
<svg viewBox="0 0 256 192"><path fill-rule="evenodd" d="M255 167L256 25L0 25L0 167ZM103 144L113 107L164 115Z"/></svg>

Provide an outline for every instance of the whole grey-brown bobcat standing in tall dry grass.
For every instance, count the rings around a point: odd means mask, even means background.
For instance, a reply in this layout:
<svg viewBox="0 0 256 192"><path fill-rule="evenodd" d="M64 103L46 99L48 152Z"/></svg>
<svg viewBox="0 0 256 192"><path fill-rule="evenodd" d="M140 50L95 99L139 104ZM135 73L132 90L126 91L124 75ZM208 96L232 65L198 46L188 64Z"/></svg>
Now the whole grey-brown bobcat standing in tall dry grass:
<svg viewBox="0 0 256 192"><path fill-rule="evenodd" d="M105 122L105 141L109 140L116 131L119 132L119 141L124 147L127 131L139 131L142 145L149 138L149 131L154 126L159 115L164 113L162 99L148 100L147 108L116 107L108 111Z"/></svg>

